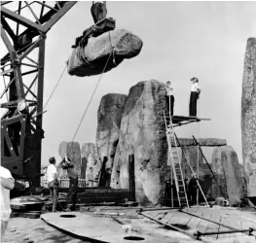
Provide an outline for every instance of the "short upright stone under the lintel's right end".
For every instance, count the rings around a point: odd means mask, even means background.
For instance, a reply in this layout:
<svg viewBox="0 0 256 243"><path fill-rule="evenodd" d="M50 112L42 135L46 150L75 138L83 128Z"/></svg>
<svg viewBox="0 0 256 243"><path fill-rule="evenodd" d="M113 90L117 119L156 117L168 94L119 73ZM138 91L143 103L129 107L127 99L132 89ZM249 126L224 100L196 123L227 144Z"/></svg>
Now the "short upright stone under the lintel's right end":
<svg viewBox="0 0 256 243"><path fill-rule="evenodd" d="M221 191L228 197L230 204L238 203L244 196L244 170L238 163L238 155L231 146L214 148L212 168L216 171L216 178ZM212 186L212 196L220 196L217 185ZM221 195L222 196L222 195Z"/></svg>

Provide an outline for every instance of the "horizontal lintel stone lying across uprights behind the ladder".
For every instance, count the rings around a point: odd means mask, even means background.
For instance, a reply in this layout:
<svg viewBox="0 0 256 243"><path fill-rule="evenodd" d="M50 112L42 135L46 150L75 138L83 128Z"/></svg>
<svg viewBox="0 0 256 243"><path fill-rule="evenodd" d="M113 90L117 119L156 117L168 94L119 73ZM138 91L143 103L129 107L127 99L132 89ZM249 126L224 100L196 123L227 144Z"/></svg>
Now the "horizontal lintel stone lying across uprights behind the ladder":
<svg viewBox="0 0 256 243"><path fill-rule="evenodd" d="M193 138L179 138L179 142L181 146L195 146L196 142ZM226 139L219 138L200 138L199 143L201 146L225 146L227 145Z"/></svg>

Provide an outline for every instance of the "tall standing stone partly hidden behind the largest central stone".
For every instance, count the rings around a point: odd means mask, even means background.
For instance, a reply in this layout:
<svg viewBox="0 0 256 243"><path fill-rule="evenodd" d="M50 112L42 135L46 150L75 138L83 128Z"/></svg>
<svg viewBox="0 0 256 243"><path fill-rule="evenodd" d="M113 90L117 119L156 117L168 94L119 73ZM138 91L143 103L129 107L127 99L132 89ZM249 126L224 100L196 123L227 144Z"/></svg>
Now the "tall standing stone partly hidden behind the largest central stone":
<svg viewBox="0 0 256 243"><path fill-rule="evenodd" d="M128 95L109 93L101 98L97 111L96 147L100 161L107 157L105 173L110 179L119 141L120 124ZM109 186L109 180L106 186Z"/></svg>

